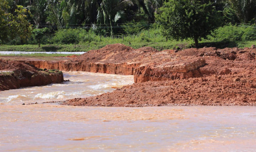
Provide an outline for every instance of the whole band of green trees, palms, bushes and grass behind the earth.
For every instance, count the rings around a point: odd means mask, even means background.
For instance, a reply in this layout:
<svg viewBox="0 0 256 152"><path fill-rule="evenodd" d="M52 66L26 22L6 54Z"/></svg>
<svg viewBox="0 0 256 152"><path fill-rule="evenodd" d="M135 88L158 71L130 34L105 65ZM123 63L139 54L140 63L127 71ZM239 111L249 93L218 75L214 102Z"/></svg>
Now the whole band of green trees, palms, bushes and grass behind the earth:
<svg viewBox="0 0 256 152"><path fill-rule="evenodd" d="M242 47L247 44L233 42L256 39L256 0L0 0L0 5L2 51L88 51L114 43L163 50L195 46L198 40Z"/></svg>

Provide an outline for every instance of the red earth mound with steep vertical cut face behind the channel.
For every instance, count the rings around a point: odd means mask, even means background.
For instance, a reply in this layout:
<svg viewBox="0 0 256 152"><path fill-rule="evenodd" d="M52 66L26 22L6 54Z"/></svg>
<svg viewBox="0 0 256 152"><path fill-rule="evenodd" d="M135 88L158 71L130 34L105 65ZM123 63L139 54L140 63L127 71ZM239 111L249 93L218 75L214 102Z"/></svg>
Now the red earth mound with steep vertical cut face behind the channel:
<svg viewBox="0 0 256 152"><path fill-rule="evenodd" d="M37 68L133 75L133 70L140 66L141 60L155 52L156 50L150 47L133 49L124 44L111 44L67 61L29 61L29 63Z"/></svg>

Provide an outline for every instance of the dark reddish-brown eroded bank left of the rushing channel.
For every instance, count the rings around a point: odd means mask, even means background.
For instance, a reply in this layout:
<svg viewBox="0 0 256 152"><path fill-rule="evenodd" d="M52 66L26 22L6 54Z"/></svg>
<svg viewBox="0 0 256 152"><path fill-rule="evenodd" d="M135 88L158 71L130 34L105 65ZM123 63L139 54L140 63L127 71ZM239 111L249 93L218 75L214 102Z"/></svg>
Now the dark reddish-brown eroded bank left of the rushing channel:
<svg viewBox="0 0 256 152"><path fill-rule="evenodd" d="M63 81L60 71L42 71L23 62L0 60L0 91Z"/></svg>

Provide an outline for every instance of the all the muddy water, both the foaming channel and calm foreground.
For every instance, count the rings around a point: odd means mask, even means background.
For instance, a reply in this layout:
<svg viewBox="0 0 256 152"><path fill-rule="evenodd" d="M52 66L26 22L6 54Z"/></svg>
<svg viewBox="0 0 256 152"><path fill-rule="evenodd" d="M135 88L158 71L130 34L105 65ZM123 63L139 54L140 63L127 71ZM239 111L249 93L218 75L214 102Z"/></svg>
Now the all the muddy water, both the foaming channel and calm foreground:
<svg viewBox="0 0 256 152"><path fill-rule="evenodd" d="M254 151L256 107L73 107L133 76L64 72L70 82L0 92L0 151Z"/></svg>

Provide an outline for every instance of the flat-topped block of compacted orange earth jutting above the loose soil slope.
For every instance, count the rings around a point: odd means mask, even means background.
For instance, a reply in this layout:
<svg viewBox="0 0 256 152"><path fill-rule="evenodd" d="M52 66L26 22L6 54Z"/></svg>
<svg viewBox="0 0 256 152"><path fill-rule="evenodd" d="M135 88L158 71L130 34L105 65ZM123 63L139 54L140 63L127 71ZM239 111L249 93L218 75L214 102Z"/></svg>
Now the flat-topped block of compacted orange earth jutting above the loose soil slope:
<svg viewBox="0 0 256 152"><path fill-rule="evenodd" d="M205 65L202 57L175 57L173 60L162 60L141 65L134 71L134 82L165 81L178 78L202 76L198 68Z"/></svg>

